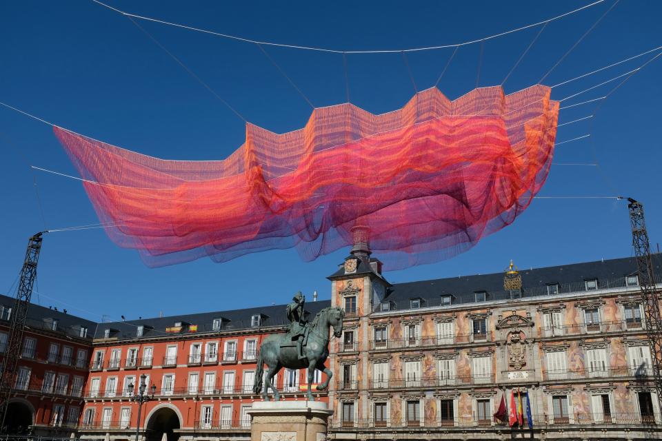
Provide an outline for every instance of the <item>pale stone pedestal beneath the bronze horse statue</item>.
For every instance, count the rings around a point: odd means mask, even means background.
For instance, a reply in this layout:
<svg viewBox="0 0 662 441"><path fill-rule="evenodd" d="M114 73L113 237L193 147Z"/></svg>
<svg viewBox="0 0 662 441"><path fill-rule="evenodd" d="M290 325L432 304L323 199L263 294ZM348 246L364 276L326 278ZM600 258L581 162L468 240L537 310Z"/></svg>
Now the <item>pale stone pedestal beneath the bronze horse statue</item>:
<svg viewBox="0 0 662 441"><path fill-rule="evenodd" d="M251 441L324 441L333 415L319 401L261 401L248 411Z"/></svg>

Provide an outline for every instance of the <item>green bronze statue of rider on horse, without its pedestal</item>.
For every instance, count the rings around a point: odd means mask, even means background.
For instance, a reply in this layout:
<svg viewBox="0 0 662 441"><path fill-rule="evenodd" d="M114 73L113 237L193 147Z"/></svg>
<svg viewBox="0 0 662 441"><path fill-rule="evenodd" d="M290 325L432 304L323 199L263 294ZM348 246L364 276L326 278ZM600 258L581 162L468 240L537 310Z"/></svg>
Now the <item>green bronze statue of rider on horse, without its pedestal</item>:
<svg viewBox="0 0 662 441"><path fill-rule="evenodd" d="M324 308L309 323L305 320L304 304L303 294L300 292L295 294L286 309L288 320L290 320L287 332L272 334L265 338L260 345L253 392L261 392L265 400L269 400L270 388L274 391L274 400L280 399L272 379L283 367L308 369L307 397L310 401L314 400L310 387L315 369L326 374L326 380L317 385L318 391L326 389L333 376L331 370L324 366L324 362L329 356L329 331L333 328L333 335L336 338L342 335L345 311L338 307ZM263 367L265 364L268 367L266 376L264 376Z"/></svg>

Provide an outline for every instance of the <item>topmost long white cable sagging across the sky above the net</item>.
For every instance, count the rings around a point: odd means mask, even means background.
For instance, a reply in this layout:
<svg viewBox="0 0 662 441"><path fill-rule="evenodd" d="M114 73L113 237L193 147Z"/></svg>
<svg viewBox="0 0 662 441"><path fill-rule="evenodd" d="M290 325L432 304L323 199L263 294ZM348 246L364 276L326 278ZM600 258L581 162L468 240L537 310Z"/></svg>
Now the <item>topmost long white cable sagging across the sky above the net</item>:
<svg viewBox="0 0 662 441"><path fill-rule="evenodd" d="M255 44L261 44L261 45L270 45L270 46L278 46L278 47L281 47L281 48L291 48L291 49L301 49L301 50L317 50L319 52L332 52L332 53L336 53L336 54L342 54L342 53L345 53L345 54L383 54L383 53L388 53L388 52L415 52L415 51L421 51L421 50L457 48L459 46L470 45L470 44L473 44L473 43L481 43L482 41L488 41L488 40L491 40L491 39L495 39L497 37L503 37L504 35L512 34L513 32L519 32L521 30L525 30L525 29L528 29L528 28L534 28L538 25L542 25L542 24L545 24L545 23L550 23L552 21L562 19L563 17L568 17L571 14L574 14L576 12L580 12L581 10L585 10L587 8L592 8L593 6L596 6L600 3L603 3L603 1L605 1L605 0L597 0L597 1L594 1L593 3L589 3L588 5L581 6L581 8L576 8L574 10L564 12L563 14L557 15L556 17L552 17L550 19L546 19L546 20L543 20L543 21L538 21L537 23L524 25L524 26L521 26L519 28L515 28L515 29L507 30L507 31L504 31L504 32L500 32L499 34L493 34L493 35L490 35L488 37L483 37L481 39L475 39L475 40L470 40L470 41L464 41L462 43L447 44L447 45L435 45L435 46L427 46L427 47L421 47L421 48L390 49L390 50L335 50L335 49L319 48L319 47L314 47L314 46L275 43L275 42L272 42L272 41L259 41L259 40L253 40L253 39L238 37L237 35L223 34L221 32L214 32L212 30L205 30L205 29L201 29L201 28L195 28L193 26L183 25L181 23L174 23L172 21L159 20L159 19L154 19L153 17L145 17L145 16L141 16L141 15L137 15L137 14L131 14L130 12L125 12L123 10L113 8L112 6L109 6L106 3L102 3L99 0L92 0L92 1L94 1L94 3L99 4L100 6L103 6L104 8L108 8L109 10L112 10L112 11L117 12L119 14L125 15L127 17L133 17L134 19L140 19L140 20L145 20L145 21L153 21L154 23L161 23L163 25L173 26L175 28L192 30L194 32L202 32L203 34L210 34L210 35L214 35L216 37L222 37L222 38L225 38L225 39L243 41L244 43L255 43Z"/></svg>

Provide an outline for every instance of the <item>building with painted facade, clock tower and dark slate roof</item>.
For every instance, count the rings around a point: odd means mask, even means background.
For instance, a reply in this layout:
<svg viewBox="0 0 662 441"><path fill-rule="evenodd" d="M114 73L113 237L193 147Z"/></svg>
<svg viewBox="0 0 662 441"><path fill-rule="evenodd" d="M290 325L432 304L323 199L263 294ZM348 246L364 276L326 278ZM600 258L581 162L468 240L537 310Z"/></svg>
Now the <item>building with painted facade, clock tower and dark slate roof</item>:
<svg viewBox="0 0 662 441"><path fill-rule="evenodd" d="M394 285L380 266L354 249L329 277L330 438L662 438L633 259ZM511 394L532 430L494 420Z"/></svg>

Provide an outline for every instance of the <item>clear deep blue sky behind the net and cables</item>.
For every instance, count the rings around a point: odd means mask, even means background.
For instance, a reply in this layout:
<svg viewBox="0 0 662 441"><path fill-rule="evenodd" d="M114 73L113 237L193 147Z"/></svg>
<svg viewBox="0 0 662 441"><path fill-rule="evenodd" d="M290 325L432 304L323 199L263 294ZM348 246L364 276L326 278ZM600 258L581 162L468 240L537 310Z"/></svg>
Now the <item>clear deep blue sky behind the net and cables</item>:
<svg viewBox="0 0 662 441"><path fill-rule="evenodd" d="M172 2L117 1L114 7L251 39L341 50L412 48L459 43L579 8L550 2ZM505 83L507 93L538 82L611 5L605 1L550 23ZM618 5L545 79L553 85L662 45L658 1ZM305 124L310 106L257 46L139 22L249 121L274 132ZM476 85L498 85L539 28L463 46L439 85L451 99ZM345 101L339 54L266 48L316 106ZM428 88L452 49L408 55L414 82ZM194 81L126 17L92 1L0 4L0 101L114 145L170 159L220 159L243 142L243 122ZM648 56L650 57L650 55ZM561 99L628 72L646 57L554 88ZM659 195L659 102L662 57L603 101L594 119L559 128L554 165L541 196L638 198L652 243L662 241ZM401 107L414 93L401 54L348 56L350 101L370 112ZM603 96L616 82L567 103ZM596 105L563 110L560 123ZM592 121L592 123L591 123ZM32 172L28 164L75 174L48 125L0 107L0 293L23 261L26 240L44 229L98 222L77 181ZM137 253L110 243L102 229L46 236L37 292L42 305L93 320L270 305L301 290L330 297L325 276L346 250L304 263L294 250L245 256L230 263L198 260L148 269ZM560 265L630 256L626 204L610 199L539 199L513 225L451 260L386 274L391 282ZM379 256L378 256L379 257Z"/></svg>

